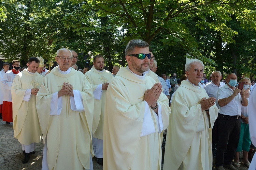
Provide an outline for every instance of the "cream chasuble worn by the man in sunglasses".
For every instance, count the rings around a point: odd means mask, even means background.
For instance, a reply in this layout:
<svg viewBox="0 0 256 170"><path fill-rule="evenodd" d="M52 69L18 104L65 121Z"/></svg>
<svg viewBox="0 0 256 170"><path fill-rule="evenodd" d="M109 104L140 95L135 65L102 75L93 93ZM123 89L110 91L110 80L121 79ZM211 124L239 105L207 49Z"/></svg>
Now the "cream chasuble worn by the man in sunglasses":
<svg viewBox="0 0 256 170"><path fill-rule="evenodd" d="M103 169L160 170L162 133L158 116L145 105L144 94L156 82L145 75L137 78L130 70L121 67L111 80L106 93L103 139ZM168 98L161 93L162 129L169 125L171 113ZM144 113L148 110L155 133L141 136ZM159 117L160 119L160 117Z"/></svg>

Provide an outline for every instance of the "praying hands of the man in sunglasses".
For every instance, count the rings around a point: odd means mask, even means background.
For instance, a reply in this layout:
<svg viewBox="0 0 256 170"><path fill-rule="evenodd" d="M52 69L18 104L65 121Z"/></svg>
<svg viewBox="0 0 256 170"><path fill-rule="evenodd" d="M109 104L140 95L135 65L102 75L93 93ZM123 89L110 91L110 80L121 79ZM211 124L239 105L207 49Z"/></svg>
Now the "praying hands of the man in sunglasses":
<svg viewBox="0 0 256 170"><path fill-rule="evenodd" d="M156 83L151 89L147 89L144 95L144 100L151 107L156 107L156 102L162 92L162 85Z"/></svg>

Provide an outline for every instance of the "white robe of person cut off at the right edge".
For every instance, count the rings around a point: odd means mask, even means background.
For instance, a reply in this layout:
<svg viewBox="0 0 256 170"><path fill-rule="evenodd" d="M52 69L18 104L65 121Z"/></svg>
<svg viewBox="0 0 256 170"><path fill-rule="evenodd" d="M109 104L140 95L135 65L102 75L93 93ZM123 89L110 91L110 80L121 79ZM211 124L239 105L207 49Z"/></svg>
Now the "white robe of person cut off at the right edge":
<svg viewBox="0 0 256 170"><path fill-rule="evenodd" d="M250 130L250 136L251 141L254 146L256 146L256 87L253 86L253 89L251 91L251 95L249 98L249 130ZM251 165L249 167L249 170L255 170L256 169L256 155L254 154Z"/></svg>

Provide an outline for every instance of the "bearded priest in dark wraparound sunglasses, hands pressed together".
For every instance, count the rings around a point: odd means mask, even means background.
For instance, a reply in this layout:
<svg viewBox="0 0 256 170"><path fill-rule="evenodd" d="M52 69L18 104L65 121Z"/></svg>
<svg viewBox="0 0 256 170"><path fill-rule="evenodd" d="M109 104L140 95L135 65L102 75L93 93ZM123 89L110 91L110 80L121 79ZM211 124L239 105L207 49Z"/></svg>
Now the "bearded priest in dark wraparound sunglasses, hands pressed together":
<svg viewBox="0 0 256 170"><path fill-rule="evenodd" d="M160 170L162 134L169 124L169 99L161 84L145 75L148 44L131 40L128 63L110 81L106 93L103 170Z"/></svg>

